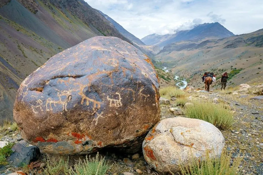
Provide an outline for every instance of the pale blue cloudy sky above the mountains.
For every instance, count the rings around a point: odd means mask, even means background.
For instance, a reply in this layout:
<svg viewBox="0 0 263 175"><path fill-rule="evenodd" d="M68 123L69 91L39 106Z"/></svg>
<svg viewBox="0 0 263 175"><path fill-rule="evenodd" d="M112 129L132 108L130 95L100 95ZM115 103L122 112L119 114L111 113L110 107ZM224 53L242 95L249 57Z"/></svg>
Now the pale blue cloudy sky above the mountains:
<svg viewBox="0 0 263 175"><path fill-rule="evenodd" d="M234 34L263 28L262 0L85 0L138 38L219 22Z"/></svg>

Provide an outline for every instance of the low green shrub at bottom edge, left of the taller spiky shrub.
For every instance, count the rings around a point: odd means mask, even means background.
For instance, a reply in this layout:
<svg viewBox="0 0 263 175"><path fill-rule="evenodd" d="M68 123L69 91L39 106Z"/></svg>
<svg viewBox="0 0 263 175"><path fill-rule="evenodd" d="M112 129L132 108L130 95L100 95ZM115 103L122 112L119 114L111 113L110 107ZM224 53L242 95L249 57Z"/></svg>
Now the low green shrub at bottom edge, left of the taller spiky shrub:
<svg viewBox="0 0 263 175"><path fill-rule="evenodd" d="M46 161L46 168L44 169L45 175L68 175L70 171L68 160L65 161L60 159L59 161L55 160L47 160Z"/></svg>

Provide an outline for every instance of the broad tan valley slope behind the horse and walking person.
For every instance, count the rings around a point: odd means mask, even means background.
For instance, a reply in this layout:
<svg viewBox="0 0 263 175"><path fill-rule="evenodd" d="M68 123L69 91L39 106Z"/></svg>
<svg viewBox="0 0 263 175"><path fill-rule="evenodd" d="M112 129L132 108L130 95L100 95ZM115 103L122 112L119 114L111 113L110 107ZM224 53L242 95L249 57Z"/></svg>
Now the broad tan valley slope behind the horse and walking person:
<svg viewBox="0 0 263 175"><path fill-rule="evenodd" d="M201 43L171 43L155 59L172 68L174 74L190 79L189 85L195 88L203 87L200 78L206 71L213 71L219 77L223 72L232 72L228 86L236 86L263 75L262 48L263 29L260 29Z"/></svg>

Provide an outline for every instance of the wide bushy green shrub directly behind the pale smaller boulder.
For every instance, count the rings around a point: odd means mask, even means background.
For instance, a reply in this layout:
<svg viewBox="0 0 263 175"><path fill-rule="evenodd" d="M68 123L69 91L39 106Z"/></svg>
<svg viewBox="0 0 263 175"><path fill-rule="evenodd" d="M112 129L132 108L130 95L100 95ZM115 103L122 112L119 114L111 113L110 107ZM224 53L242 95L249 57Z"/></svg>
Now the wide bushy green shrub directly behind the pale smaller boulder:
<svg viewBox="0 0 263 175"><path fill-rule="evenodd" d="M224 108L224 104L194 102L193 105L186 106L186 116L205 120L221 129L228 129L233 124L233 114Z"/></svg>

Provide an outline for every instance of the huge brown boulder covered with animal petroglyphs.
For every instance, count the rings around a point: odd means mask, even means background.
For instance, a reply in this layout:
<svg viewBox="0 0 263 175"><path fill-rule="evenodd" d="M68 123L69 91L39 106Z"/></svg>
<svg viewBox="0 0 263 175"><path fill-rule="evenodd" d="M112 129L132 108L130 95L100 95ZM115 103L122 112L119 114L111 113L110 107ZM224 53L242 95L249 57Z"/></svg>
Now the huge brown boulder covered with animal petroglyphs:
<svg viewBox="0 0 263 175"><path fill-rule="evenodd" d="M20 85L14 119L49 154L137 152L160 120L149 58L116 37L93 37L51 57Z"/></svg>

